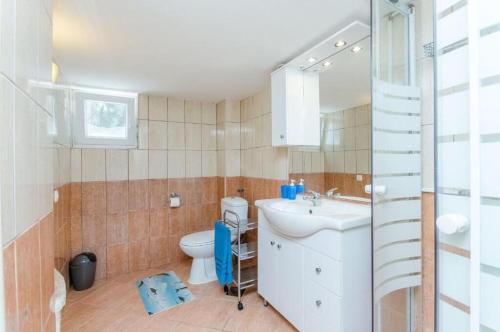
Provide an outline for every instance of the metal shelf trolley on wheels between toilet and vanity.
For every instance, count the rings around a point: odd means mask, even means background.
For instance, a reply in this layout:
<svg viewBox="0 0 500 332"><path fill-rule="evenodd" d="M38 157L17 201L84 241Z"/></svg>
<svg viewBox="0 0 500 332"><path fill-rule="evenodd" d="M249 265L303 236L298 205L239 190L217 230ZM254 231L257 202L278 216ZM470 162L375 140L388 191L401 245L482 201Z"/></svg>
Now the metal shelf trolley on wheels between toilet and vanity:
<svg viewBox="0 0 500 332"><path fill-rule="evenodd" d="M233 218L227 218L230 214ZM232 244L232 253L236 258L236 269L233 268L233 284L237 288L238 310L243 310L241 302L242 292L257 285L257 265L242 267L241 262L257 257L256 242L241 242L241 235L249 230L256 229L257 219L240 220L238 214L225 210L222 222L236 231L236 240ZM227 286L225 287L228 292Z"/></svg>

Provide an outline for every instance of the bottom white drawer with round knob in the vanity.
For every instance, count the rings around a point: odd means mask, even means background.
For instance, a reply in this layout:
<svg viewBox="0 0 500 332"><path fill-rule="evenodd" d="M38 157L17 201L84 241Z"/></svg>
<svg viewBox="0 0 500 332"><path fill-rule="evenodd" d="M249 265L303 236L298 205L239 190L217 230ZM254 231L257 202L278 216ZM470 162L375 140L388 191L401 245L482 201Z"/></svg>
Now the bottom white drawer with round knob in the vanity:
<svg viewBox="0 0 500 332"><path fill-rule="evenodd" d="M304 295L304 331L342 331L342 298L311 280Z"/></svg>

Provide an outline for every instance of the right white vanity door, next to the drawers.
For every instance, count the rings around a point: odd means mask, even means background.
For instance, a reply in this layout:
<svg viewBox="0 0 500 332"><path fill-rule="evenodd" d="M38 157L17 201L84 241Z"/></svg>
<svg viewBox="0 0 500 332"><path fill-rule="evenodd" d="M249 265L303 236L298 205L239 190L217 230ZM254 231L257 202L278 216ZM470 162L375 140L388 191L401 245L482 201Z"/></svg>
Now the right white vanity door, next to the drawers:
<svg viewBox="0 0 500 332"><path fill-rule="evenodd" d="M304 253L297 243L278 238L278 310L297 329L303 328Z"/></svg>

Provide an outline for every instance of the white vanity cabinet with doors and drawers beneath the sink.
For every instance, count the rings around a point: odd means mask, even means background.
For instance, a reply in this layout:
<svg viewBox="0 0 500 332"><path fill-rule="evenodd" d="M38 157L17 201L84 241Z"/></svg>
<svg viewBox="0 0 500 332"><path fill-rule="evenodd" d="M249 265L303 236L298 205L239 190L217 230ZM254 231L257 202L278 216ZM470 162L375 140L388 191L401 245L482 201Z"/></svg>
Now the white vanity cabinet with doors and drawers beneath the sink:
<svg viewBox="0 0 500 332"><path fill-rule="evenodd" d="M259 210L258 292L300 331L371 331L369 225L291 238Z"/></svg>

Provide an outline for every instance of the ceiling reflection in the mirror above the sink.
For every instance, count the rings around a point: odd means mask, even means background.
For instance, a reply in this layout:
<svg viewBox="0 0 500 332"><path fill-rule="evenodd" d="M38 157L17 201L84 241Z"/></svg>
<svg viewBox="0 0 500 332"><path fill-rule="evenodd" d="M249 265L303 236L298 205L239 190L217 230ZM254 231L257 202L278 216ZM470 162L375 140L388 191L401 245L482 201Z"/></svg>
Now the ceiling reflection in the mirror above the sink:
<svg viewBox="0 0 500 332"><path fill-rule="evenodd" d="M357 43L359 53L351 48L337 53L328 70L319 74L319 100L321 113L341 111L370 103L370 38Z"/></svg>

